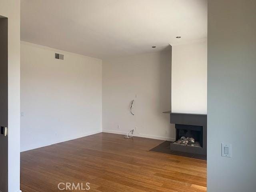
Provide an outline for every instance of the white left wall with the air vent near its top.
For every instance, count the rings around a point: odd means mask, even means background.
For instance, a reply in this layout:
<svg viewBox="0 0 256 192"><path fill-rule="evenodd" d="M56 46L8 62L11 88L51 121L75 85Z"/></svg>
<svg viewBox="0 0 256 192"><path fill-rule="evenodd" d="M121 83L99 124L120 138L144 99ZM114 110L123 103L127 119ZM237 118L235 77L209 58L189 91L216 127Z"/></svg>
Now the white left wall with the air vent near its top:
<svg viewBox="0 0 256 192"><path fill-rule="evenodd" d="M21 42L21 112L21 151L101 132L102 61Z"/></svg>

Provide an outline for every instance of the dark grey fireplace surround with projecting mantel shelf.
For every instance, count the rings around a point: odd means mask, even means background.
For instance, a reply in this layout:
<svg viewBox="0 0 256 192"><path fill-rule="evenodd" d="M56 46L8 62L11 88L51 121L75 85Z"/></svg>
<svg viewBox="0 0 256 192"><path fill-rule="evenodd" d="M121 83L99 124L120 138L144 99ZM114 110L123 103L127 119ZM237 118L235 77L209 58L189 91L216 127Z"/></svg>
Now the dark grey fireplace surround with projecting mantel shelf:
<svg viewBox="0 0 256 192"><path fill-rule="evenodd" d="M192 154L207 154L207 115L170 113L170 123L175 124L176 141L182 136L192 137L199 145L170 144L170 149Z"/></svg>

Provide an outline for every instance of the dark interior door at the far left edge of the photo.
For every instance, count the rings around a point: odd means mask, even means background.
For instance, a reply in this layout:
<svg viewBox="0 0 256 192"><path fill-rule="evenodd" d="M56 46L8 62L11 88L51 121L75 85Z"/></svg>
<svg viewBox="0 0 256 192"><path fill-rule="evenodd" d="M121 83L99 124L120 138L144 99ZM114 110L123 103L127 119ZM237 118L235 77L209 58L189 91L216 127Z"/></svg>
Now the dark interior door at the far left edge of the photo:
<svg viewBox="0 0 256 192"><path fill-rule="evenodd" d="M8 192L8 19L0 16L0 192Z"/></svg>

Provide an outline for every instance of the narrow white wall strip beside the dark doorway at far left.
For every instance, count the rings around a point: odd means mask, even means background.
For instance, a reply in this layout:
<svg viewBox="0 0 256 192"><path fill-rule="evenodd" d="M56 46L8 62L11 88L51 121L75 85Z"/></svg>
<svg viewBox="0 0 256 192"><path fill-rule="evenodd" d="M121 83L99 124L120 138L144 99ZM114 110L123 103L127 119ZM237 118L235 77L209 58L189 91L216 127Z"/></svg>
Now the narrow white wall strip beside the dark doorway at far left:
<svg viewBox="0 0 256 192"><path fill-rule="evenodd" d="M20 0L1 0L8 17L8 190L20 190Z"/></svg>

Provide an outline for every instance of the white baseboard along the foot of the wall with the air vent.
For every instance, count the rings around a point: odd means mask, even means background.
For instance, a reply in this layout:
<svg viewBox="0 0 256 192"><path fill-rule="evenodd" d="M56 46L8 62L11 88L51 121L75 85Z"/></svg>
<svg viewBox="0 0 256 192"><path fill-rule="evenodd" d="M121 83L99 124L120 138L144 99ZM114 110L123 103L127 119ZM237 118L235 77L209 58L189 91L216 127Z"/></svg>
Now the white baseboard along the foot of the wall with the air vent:
<svg viewBox="0 0 256 192"><path fill-rule="evenodd" d="M86 136L89 136L89 135L94 135L94 134L101 133L101 132L102 132L101 130L97 130L97 131L92 131L92 132L86 132L86 133L83 133L83 134L77 134L77 135L66 137L66 138L58 138L58 139L56 139L54 141L51 141L51 142L48 142L48 143L44 143L44 144L41 143L41 144L37 144L37 145L26 146L25 148L22 148L20 150L20 152L24 152L24 151L28 151L28 150L32 150L32 149L37 149L37 148L41 148L41 147L46 147L46 146L50 146L50 145L53 145L53 144L62 143L62 142L65 142L65 141L70 141L70 140L86 137Z"/></svg>

